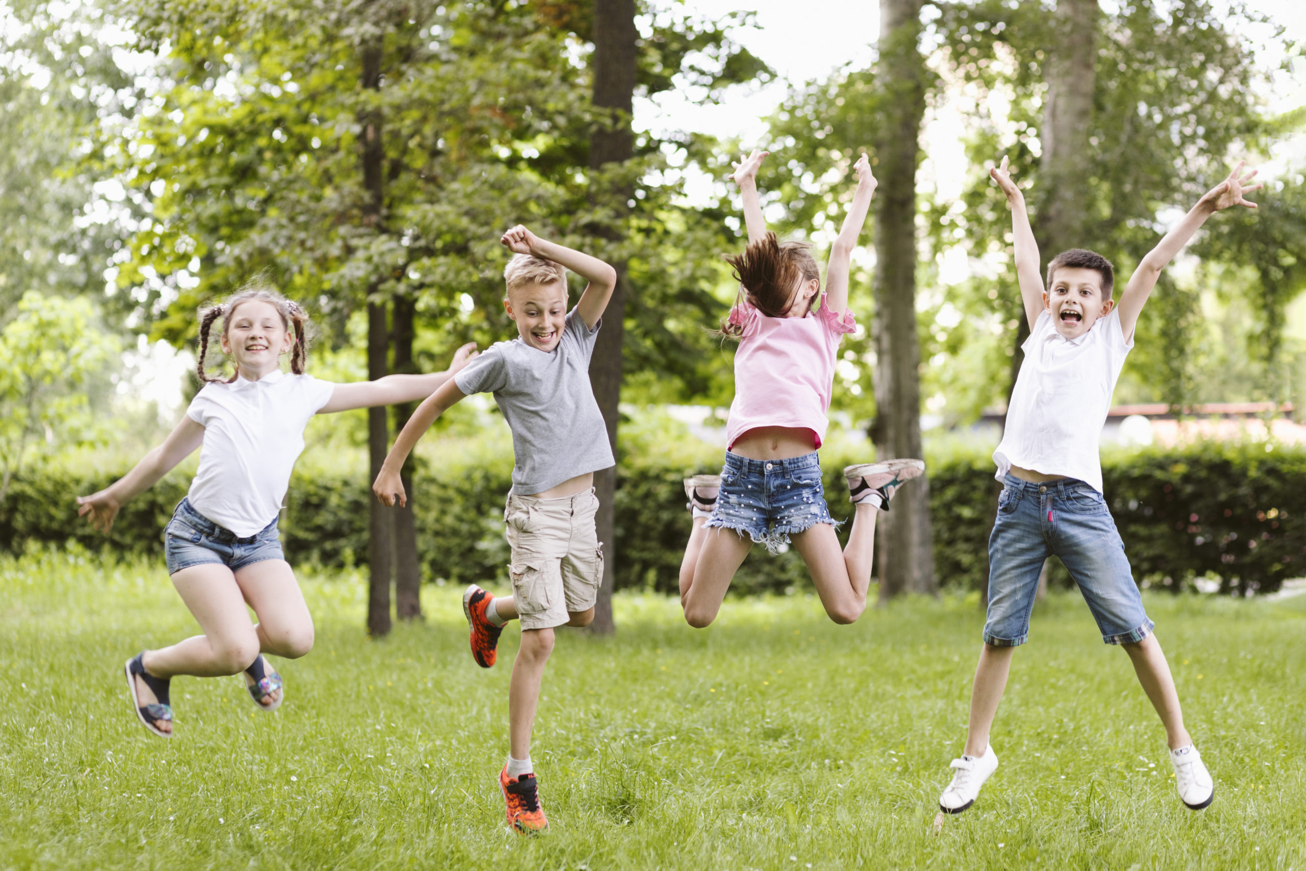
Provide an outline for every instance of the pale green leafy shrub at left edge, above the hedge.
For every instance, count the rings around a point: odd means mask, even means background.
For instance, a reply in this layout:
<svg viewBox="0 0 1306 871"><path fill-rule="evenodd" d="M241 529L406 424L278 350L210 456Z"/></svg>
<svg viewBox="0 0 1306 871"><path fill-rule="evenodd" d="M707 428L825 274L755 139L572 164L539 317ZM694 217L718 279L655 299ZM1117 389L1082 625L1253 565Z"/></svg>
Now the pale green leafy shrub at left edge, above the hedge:
<svg viewBox="0 0 1306 871"><path fill-rule="evenodd" d="M102 436L88 388L114 368L120 345L95 321L85 298L29 290L0 332L0 501L33 457Z"/></svg>

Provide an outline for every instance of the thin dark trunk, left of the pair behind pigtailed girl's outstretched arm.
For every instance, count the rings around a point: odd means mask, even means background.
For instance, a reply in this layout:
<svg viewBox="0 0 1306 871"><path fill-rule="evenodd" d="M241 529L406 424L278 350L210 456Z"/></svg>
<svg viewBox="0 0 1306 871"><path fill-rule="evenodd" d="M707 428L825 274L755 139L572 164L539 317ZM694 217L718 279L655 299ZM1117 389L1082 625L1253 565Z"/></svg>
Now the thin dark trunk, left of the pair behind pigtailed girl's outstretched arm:
<svg viewBox="0 0 1306 871"><path fill-rule="evenodd" d="M362 85L367 90L381 86L381 46L372 43L363 48ZM362 125L363 187L367 200L363 204L363 223L374 230L381 227L381 209L385 204L385 149L381 142L381 114L367 110L359 118ZM371 294L376 286L368 287L367 303L367 377L376 380L388 375L387 356L389 351L389 329L385 324L385 304L374 302ZM389 426L387 409L367 410L367 453L371 458L372 477L376 481L389 451ZM368 512L368 597L367 631L380 637L390 631L390 569L394 550L394 513L376 499L370 500Z"/></svg>

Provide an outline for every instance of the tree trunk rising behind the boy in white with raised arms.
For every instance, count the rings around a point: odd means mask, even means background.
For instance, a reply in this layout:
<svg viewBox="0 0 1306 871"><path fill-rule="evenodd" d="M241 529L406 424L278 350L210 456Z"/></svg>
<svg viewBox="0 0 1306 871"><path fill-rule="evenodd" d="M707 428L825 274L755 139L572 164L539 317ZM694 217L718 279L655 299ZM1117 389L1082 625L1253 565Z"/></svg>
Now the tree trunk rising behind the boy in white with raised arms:
<svg viewBox="0 0 1306 871"><path fill-rule="evenodd" d="M1088 135L1093 121L1093 60L1097 56L1097 30L1101 10L1097 0L1058 0L1053 16L1054 44L1043 50L1043 82L1047 98L1038 131L1042 155L1038 161L1037 210L1033 230L1038 255L1046 264L1068 248L1084 245L1083 213L1088 204ZM1024 307L1019 315L1016 346L1011 356L1011 384L1025 359L1021 346L1029 338Z"/></svg>

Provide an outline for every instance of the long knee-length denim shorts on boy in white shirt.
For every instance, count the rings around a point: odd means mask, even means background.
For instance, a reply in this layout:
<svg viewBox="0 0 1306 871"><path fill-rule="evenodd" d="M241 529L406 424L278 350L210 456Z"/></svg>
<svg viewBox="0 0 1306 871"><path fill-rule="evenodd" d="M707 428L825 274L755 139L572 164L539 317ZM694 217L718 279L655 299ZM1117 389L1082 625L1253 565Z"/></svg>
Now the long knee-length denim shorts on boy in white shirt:
<svg viewBox="0 0 1306 871"><path fill-rule="evenodd" d="M1106 644L1135 644L1156 626L1143 610L1124 542L1106 500L1083 481L1003 481L998 520L989 537L986 644L1015 646L1029 640L1043 560L1060 558L1079 585Z"/></svg>

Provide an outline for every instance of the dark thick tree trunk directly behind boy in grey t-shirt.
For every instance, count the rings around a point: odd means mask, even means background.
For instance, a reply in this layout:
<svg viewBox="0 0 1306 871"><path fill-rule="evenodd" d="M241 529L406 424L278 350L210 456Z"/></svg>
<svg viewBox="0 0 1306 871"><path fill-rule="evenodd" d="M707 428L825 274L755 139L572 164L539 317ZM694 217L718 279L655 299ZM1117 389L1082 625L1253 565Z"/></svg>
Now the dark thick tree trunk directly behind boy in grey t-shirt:
<svg viewBox="0 0 1306 871"><path fill-rule="evenodd" d="M635 135L631 131L631 106L635 97L635 52L639 30L635 27L633 0L594 0L594 55L590 69L594 73L594 106L609 110L599 114L589 142L589 165L601 168L609 163L623 163L635 153ZM629 191L624 185L616 189L596 192L596 198L607 201L615 214L626 212ZM601 235L619 239L619 227L602 227ZM616 423L620 417L618 404L622 398L622 333L626 319L626 295L628 282L626 262L614 262L616 269L616 290L603 312L603 329L594 343L594 355L589 363L589 380L598 401L603 422L607 424L607 439L616 456ZM594 474L594 491L598 494L598 515L594 524L598 541L603 545L603 585L598 590L594 606L594 622L590 631L611 633L616 626L613 622L613 585L616 565L616 530L613 500L616 495L616 469L605 469Z"/></svg>

